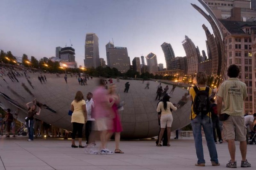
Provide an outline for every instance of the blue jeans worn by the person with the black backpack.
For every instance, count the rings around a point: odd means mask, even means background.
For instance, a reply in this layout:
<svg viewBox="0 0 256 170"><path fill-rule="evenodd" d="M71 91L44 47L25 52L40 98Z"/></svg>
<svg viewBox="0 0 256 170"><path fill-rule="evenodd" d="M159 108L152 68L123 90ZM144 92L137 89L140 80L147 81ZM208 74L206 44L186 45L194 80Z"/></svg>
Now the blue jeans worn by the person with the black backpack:
<svg viewBox="0 0 256 170"><path fill-rule="evenodd" d="M202 119L201 115L197 115L191 121L191 125L192 125L193 135L195 139L195 150L196 150L196 155L198 157L198 164L205 163L204 150L203 150L203 144L202 144L202 133L201 133L202 126L204 129L204 134L207 141L207 147L209 150L211 161L218 163L218 154L217 154L215 142L213 139L211 118L209 116L204 116Z"/></svg>

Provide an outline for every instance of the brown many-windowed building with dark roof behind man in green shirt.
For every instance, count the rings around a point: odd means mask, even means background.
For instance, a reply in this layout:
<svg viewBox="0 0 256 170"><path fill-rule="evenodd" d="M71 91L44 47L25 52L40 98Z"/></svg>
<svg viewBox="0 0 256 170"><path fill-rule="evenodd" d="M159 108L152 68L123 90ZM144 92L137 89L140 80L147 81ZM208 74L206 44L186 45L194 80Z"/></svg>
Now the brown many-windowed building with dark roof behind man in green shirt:
<svg viewBox="0 0 256 170"><path fill-rule="evenodd" d="M241 22L220 20L227 47L227 67L230 64L239 66L239 80L247 85L248 98L245 100L245 112L255 112L253 85L254 67L252 59L252 32L256 28L255 22Z"/></svg>

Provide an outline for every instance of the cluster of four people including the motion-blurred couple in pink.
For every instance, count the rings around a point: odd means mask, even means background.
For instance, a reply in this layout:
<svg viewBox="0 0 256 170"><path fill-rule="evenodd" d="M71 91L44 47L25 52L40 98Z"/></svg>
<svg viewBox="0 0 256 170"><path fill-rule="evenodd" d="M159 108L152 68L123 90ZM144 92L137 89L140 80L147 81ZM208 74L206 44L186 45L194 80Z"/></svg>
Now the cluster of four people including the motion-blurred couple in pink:
<svg viewBox="0 0 256 170"><path fill-rule="evenodd" d="M87 101L81 91L76 92L75 99L71 103L71 122L73 124L71 147L87 147L86 153L97 154L95 138L99 134L101 140L100 154L113 154L108 150L107 143L115 133L115 153L123 153L119 149L120 133L122 125L119 118L118 107L120 98L116 94L116 85L111 82L108 89L105 88L105 80L99 80L99 87L93 92L87 93ZM82 145L82 129L86 127L86 144ZM79 146L75 144L76 133L78 133Z"/></svg>

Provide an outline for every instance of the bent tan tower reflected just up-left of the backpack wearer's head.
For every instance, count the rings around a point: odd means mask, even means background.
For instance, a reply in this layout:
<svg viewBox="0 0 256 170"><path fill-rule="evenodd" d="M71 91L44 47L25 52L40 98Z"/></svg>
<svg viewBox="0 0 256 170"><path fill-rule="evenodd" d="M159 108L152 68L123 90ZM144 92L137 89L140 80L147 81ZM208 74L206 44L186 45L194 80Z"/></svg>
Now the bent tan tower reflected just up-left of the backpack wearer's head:
<svg viewBox="0 0 256 170"><path fill-rule="evenodd" d="M195 75L198 72L198 50L192 40L185 35L185 40L182 42L183 48L186 52L188 62L188 75Z"/></svg>

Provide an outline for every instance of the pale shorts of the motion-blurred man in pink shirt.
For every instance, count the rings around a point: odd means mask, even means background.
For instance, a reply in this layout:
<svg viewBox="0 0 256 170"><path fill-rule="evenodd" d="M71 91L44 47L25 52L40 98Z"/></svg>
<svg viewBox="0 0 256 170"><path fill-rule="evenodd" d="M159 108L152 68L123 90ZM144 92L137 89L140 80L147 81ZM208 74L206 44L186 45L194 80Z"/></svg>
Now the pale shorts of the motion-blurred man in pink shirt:
<svg viewBox="0 0 256 170"><path fill-rule="evenodd" d="M93 130L102 131L112 129L113 120L111 118L97 118L95 121L93 121Z"/></svg>

